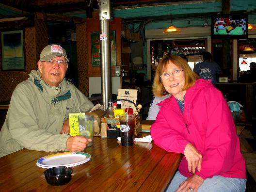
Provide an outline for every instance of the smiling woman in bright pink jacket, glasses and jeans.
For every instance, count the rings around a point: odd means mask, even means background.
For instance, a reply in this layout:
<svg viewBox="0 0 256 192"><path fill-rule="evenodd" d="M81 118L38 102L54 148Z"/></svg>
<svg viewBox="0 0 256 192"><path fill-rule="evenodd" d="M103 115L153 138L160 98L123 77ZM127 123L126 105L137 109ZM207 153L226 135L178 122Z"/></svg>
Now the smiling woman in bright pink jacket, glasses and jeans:
<svg viewBox="0 0 256 192"><path fill-rule="evenodd" d="M154 143L168 152L183 153L168 192L244 192L245 161L236 128L222 93L199 79L178 56L159 63L155 96L171 97L158 105L151 126Z"/></svg>

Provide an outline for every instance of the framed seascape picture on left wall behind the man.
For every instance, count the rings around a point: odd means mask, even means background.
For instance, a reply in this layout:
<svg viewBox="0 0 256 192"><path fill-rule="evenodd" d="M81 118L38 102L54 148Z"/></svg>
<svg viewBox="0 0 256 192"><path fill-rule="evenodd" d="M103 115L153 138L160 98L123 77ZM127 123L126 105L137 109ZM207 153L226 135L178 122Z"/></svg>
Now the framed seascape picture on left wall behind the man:
<svg viewBox="0 0 256 192"><path fill-rule="evenodd" d="M2 70L25 70L23 30L1 32Z"/></svg>

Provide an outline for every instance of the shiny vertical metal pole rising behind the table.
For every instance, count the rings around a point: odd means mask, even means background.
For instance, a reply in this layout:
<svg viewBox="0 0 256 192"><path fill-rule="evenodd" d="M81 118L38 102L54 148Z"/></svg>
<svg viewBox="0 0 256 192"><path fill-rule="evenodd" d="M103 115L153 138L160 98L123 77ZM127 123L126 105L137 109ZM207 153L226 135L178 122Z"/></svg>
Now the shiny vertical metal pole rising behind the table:
<svg viewBox="0 0 256 192"><path fill-rule="evenodd" d="M110 48L110 0L99 1L100 20L100 64L101 64L101 99L104 110L108 108L108 101L112 98L111 80L111 48Z"/></svg>

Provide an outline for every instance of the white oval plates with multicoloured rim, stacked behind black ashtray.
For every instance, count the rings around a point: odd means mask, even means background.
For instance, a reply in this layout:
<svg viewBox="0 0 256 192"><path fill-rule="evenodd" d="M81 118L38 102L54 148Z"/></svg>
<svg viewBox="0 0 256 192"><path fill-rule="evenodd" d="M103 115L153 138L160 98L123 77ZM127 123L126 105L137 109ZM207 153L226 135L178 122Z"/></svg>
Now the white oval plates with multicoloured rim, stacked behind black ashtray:
<svg viewBox="0 0 256 192"><path fill-rule="evenodd" d="M83 152L56 153L42 157L36 161L36 165L42 168L66 166L74 167L91 159L91 155Z"/></svg>

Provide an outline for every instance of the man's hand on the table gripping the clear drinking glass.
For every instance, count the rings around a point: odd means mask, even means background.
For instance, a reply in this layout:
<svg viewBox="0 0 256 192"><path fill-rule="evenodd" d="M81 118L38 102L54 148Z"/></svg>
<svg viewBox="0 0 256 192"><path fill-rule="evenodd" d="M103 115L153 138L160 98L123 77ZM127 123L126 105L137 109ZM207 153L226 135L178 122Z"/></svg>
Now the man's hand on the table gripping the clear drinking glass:
<svg viewBox="0 0 256 192"><path fill-rule="evenodd" d="M80 152L89 144L92 140L83 136L71 136L67 139L66 147L70 152Z"/></svg>

